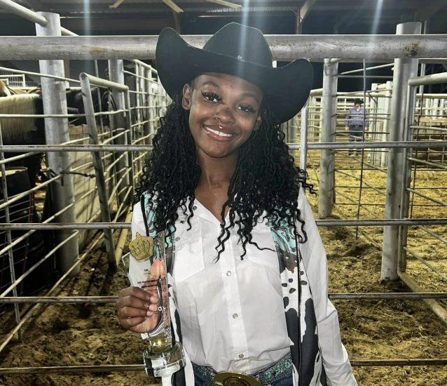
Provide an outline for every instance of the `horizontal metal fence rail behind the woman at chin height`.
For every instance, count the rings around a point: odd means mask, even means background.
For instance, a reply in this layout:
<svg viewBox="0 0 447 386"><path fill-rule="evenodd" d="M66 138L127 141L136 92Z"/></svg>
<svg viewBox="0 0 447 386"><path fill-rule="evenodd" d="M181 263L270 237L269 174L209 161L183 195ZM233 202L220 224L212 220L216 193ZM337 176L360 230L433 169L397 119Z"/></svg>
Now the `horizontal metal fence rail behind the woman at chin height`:
<svg viewBox="0 0 447 386"><path fill-rule="evenodd" d="M301 145L287 143L291 150L299 150ZM447 147L447 141L386 141L386 142L312 142L308 149L380 149L411 147L426 149L427 147ZM3 145L0 152L149 152L151 145Z"/></svg>

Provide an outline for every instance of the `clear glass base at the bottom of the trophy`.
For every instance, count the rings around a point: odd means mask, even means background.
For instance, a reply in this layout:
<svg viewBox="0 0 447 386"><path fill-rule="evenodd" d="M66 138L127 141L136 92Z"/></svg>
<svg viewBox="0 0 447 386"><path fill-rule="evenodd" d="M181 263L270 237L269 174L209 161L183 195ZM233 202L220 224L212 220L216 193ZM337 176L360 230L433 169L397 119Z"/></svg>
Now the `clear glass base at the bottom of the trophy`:
<svg viewBox="0 0 447 386"><path fill-rule="evenodd" d="M185 366L185 356L180 342L164 352L153 352L146 348L143 352L146 374L153 377L169 377Z"/></svg>

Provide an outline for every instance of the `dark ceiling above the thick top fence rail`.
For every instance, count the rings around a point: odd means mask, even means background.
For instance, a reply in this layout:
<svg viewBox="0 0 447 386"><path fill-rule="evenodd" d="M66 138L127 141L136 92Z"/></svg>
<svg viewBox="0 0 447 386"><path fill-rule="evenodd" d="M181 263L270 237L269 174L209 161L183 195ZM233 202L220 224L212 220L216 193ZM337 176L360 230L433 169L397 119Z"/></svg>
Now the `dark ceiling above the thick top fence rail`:
<svg viewBox="0 0 447 386"><path fill-rule="evenodd" d="M266 34L294 34L300 10L304 34L393 34L399 22L427 19L429 33L447 33L447 0L228 0L238 9L210 1L174 0L183 11L175 13L163 0L16 0L34 11L60 13L63 27L83 35L158 34L167 26L181 34L212 34L230 21ZM34 34L32 22L0 12L0 34Z"/></svg>

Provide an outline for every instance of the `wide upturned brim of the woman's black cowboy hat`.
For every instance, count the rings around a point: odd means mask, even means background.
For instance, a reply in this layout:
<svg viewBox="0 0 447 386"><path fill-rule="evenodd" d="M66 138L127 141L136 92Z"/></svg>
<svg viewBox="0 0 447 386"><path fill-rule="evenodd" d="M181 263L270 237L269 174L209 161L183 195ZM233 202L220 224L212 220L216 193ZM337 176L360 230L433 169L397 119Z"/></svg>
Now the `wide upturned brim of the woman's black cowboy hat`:
<svg viewBox="0 0 447 386"><path fill-rule="evenodd" d="M298 114L308 100L313 80L312 65L308 60L294 60L279 68L258 65L190 46L172 28L160 32L156 65L160 82L171 97L204 72L231 74L245 79L261 88L277 123Z"/></svg>

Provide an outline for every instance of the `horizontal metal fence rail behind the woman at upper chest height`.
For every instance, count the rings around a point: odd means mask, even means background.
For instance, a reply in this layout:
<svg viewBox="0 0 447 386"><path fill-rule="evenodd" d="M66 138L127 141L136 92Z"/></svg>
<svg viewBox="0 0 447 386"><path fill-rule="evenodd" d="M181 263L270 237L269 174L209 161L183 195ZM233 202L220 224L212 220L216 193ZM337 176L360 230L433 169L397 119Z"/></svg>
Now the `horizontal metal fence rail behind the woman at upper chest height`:
<svg viewBox="0 0 447 386"><path fill-rule="evenodd" d="M382 227L383 225L447 225L447 218L398 218L369 220L315 220L319 227ZM57 222L43 224L41 222L0 223L0 231L11 230L54 230L54 229L129 229L130 222Z"/></svg>

